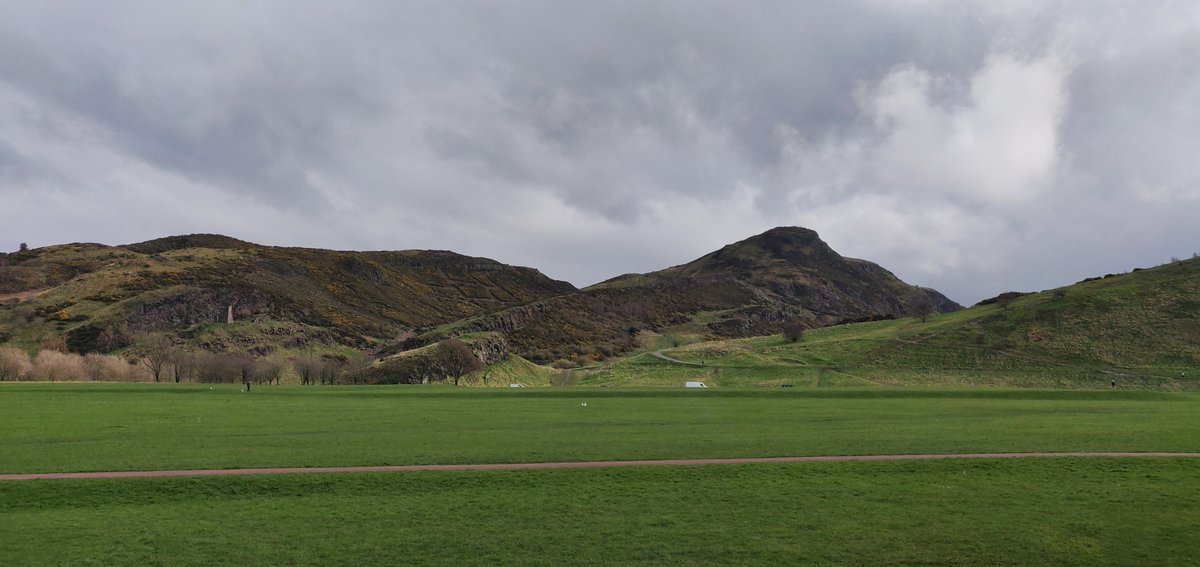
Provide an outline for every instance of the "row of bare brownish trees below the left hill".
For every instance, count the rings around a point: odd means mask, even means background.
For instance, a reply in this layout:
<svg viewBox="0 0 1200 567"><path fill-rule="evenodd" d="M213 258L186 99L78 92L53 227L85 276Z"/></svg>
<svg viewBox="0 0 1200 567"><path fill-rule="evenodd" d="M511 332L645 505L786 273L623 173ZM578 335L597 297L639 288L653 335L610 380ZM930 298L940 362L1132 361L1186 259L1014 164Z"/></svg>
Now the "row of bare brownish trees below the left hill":
<svg viewBox="0 0 1200 567"><path fill-rule="evenodd" d="M302 384L332 384L358 365L341 354L299 357L210 353L175 347L145 348L128 358L42 350L30 357L0 347L0 381L46 382L202 382L277 384L295 377Z"/></svg>

